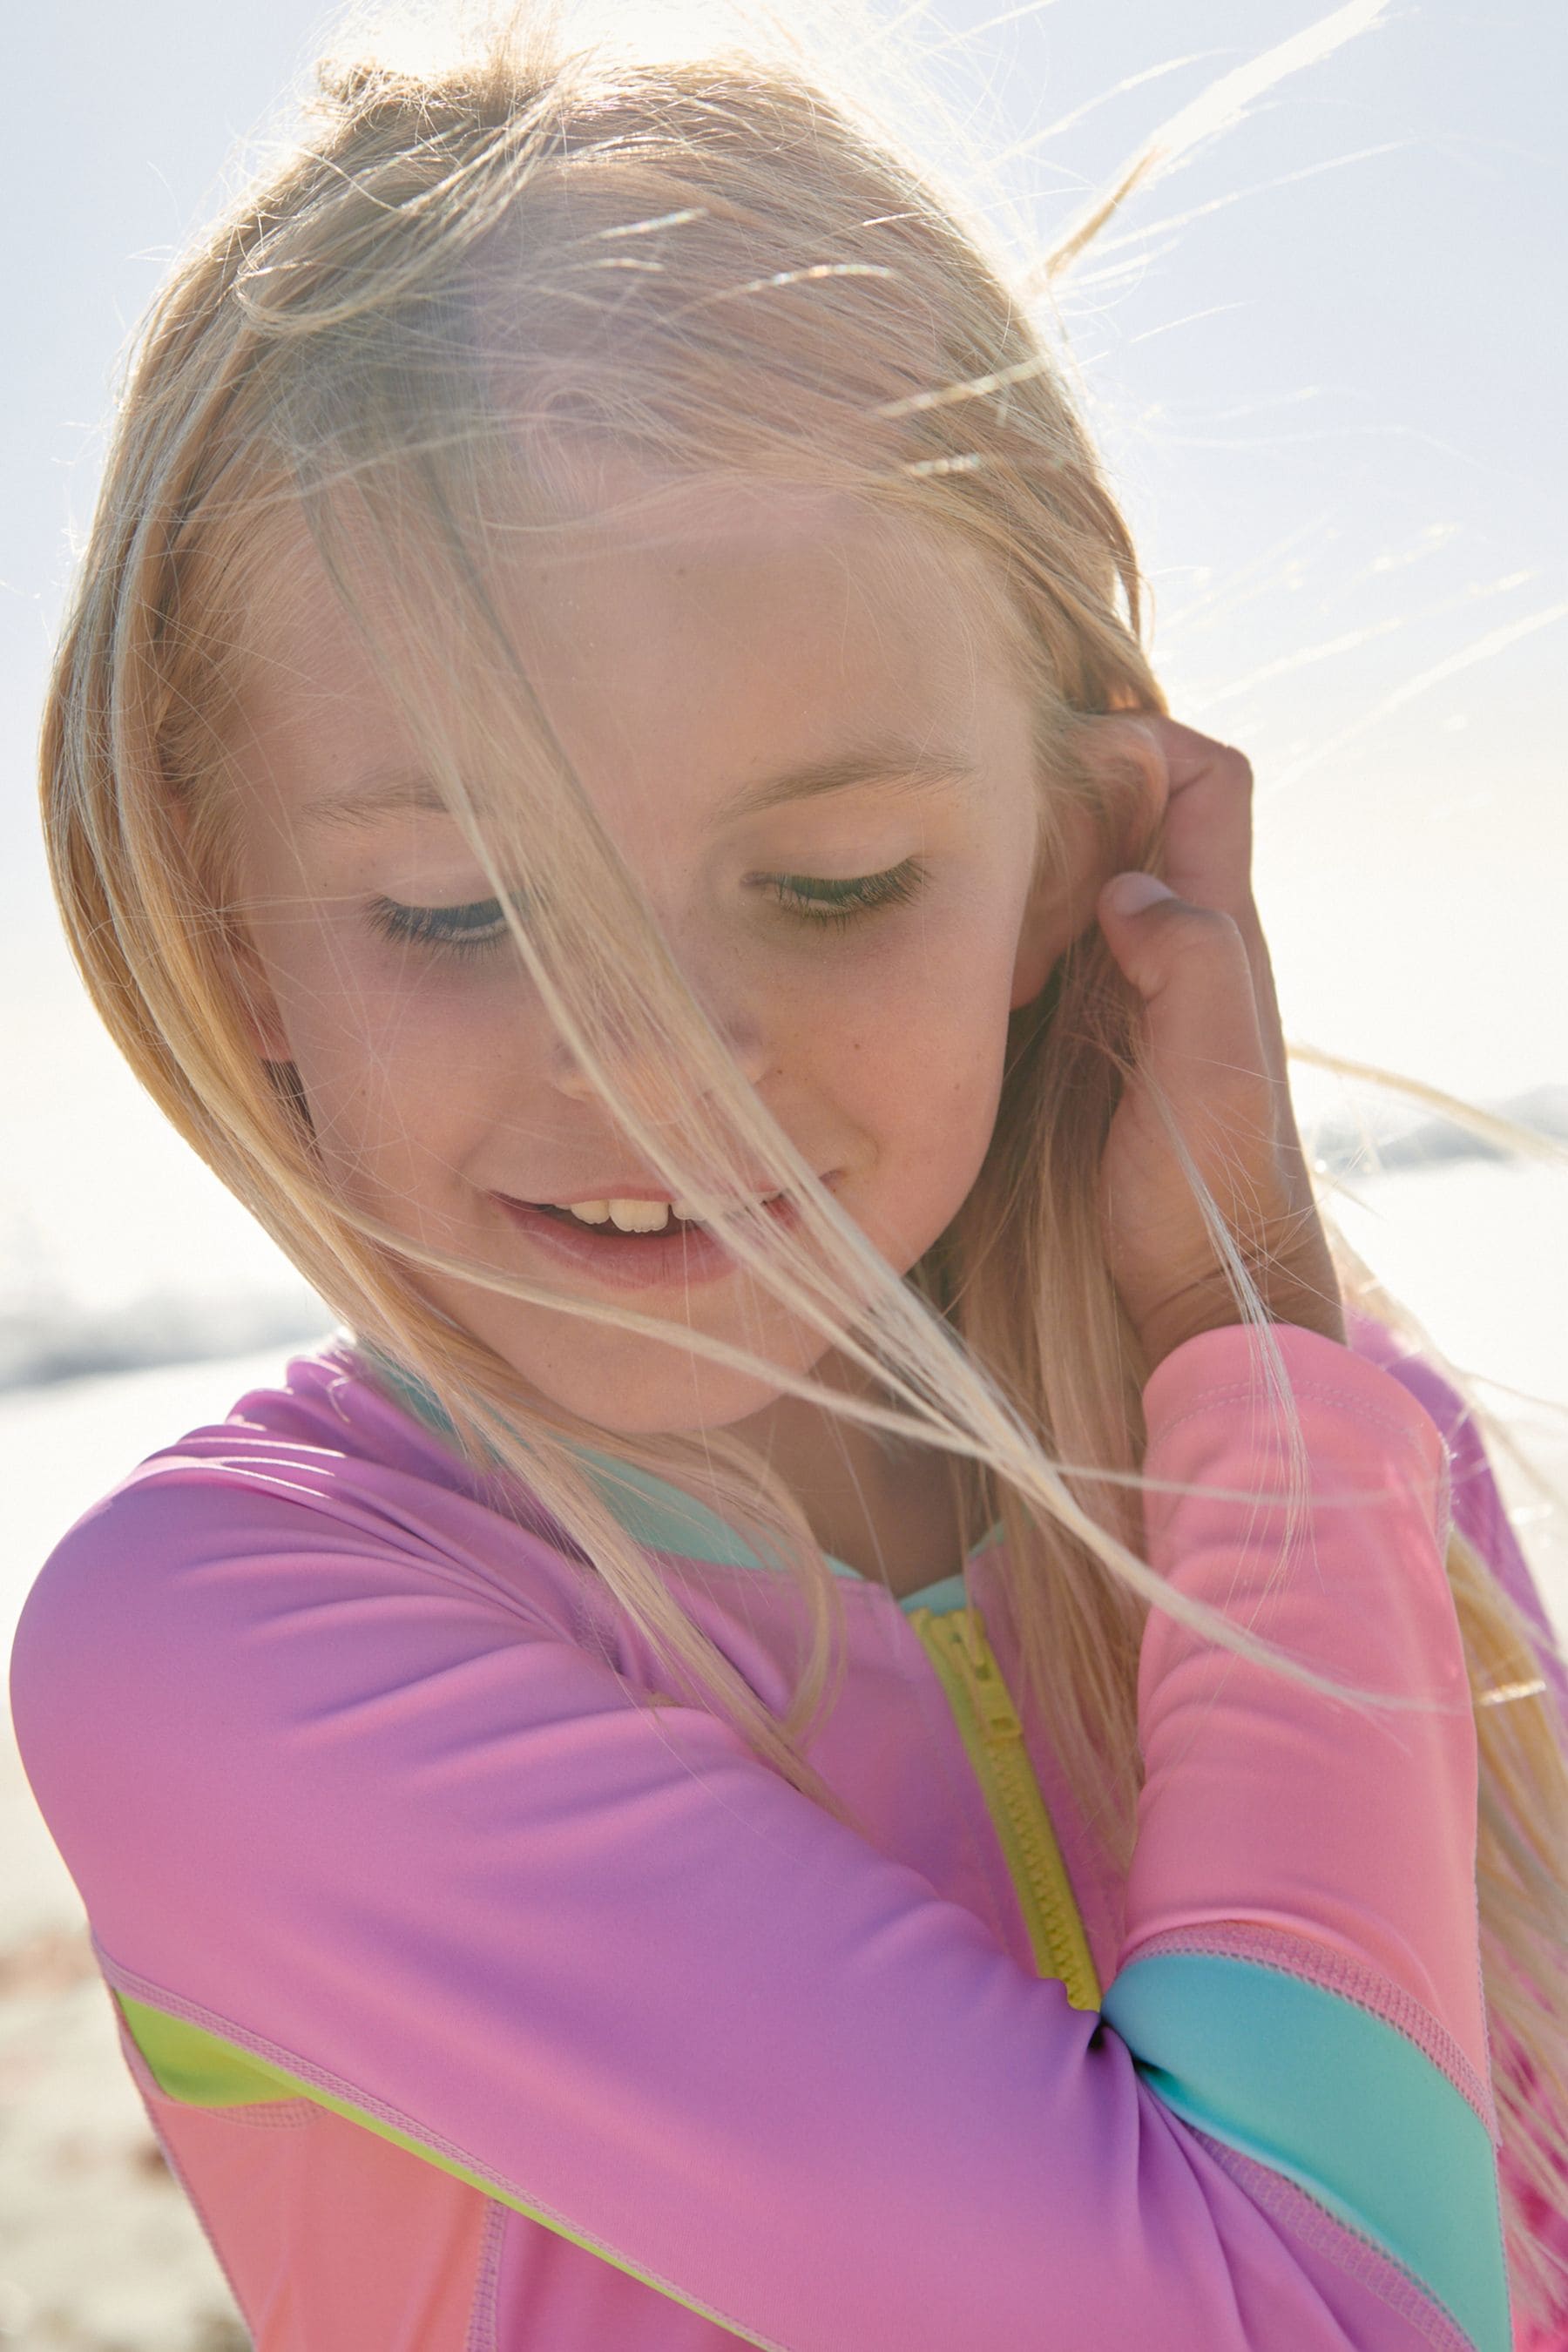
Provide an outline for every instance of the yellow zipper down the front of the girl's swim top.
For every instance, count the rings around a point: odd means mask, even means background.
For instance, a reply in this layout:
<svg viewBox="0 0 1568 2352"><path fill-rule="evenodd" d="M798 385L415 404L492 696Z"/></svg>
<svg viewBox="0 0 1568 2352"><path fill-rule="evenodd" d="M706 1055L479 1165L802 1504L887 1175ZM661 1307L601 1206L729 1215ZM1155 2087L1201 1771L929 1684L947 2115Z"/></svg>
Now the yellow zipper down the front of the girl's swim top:
<svg viewBox="0 0 1568 2352"><path fill-rule="evenodd" d="M978 1609L910 1609L947 1696L997 1828L1039 1976L1056 1976L1074 2009L1100 2006L1100 1978L1072 1898L1063 1849L1039 1792L1018 1710Z"/></svg>

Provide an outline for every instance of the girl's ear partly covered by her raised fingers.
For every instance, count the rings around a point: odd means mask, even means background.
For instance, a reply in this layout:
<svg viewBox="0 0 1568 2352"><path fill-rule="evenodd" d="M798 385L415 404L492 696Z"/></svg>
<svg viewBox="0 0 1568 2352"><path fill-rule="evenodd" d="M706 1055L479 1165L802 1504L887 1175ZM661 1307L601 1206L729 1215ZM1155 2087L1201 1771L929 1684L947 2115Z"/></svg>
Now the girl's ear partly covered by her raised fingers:
<svg viewBox="0 0 1568 2352"><path fill-rule="evenodd" d="M1072 941L1093 924L1110 877L1145 861L1164 814L1166 760L1135 717L1098 722L1079 755L1098 788L1098 807L1074 797L1053 811L1018 929L1013 1011L1034 1002Z"/></svg>

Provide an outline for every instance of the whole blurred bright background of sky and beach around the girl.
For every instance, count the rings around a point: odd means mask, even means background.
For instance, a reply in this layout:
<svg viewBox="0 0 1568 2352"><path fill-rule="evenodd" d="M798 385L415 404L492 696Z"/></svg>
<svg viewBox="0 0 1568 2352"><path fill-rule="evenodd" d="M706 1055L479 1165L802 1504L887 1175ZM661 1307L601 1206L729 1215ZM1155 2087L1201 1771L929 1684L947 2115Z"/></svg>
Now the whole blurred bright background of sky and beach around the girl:
<svg viewBox="0 0 1568 2352"><path fill-rule="evenodd" d="M0 435L0 1635L125 1470L324 1308L162 1127L61 946L42 680L118 353L287 125L313 0L54 0L7 56ZM1258 771L1286 1035L1568 1141L1568 12L1552 0L987 0L877 21L1048 245L1171 162L1060 292L1178 717ZM1312 28L1321 31L1312 31ZM1293 42L1295 71L1241 68ZM1227 80L1229 78L1229 80ZM1201 106L1204 94L1218 96ZM947 148L936 120L924 134ZM964 169L961 160L957 169ZM1354 1247L1474 1376L1559 1625L1568 1183L1302 1068ZM80 1905L0 1738L0 2345L244 2345L120 2063Z"/></svg>

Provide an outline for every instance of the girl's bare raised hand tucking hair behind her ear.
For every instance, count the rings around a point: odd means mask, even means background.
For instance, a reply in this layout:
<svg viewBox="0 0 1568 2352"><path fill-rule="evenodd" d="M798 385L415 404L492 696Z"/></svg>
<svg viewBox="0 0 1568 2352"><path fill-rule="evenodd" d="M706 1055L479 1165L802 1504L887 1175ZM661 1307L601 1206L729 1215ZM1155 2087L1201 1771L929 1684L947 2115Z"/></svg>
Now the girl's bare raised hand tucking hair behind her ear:
<svg viewBox="0 0 1568 2352"><path fill-rule="evenodd" d="M1159 1080L1272 1319L1345 1343L1253 906L1253 771L1239 750L1173 720L1117 724L1154 741L1166 776L1168 887L1121 873L1095 901L1110 953L1145 1002L1143 1065ZM1182 1341L1239 1319L1143 1077L1128 1082L1110 1127L1100 1225L1150 1371Z"/></svg>

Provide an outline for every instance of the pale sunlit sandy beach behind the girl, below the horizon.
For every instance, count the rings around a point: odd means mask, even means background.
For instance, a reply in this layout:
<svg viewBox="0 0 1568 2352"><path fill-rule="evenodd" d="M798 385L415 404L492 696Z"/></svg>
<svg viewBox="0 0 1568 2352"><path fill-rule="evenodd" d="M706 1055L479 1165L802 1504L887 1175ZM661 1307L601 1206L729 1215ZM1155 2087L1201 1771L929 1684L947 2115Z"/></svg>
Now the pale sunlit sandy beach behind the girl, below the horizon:
<svg viewBox="0 0 1568 2352"><path fill-rule="evenodd" d="M12 1552L9 1639L26 1588L80 1510L143 1454L275 1378L292 1350L78 1381L0 1399ZM1507 1399L1497 1397L1497 1404ZM1509 1425L1568 1489L1568 1414L1514 1399ZM1568 1637L1568 1524L1497 1475ZM244 2352L221 2267L169 2178L115 2042L82 1907L0 1736L0 2345L26 2352Z"/></svg>

